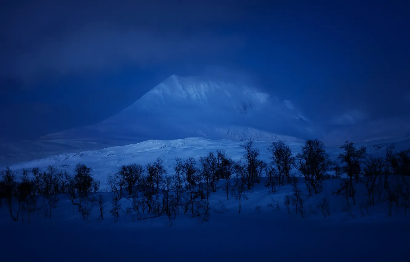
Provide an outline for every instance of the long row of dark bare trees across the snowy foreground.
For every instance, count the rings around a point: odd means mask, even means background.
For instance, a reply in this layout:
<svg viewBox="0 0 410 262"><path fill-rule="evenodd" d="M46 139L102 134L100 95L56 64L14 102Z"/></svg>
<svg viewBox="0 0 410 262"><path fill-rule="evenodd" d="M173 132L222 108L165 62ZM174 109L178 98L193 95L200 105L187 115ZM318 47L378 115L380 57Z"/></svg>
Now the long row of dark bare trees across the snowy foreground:
<svg viewBox="0 0 410 262"><path fill-rule="evenodd" d="M358 183L367 188L368 205L375 205L375 198L378 202L388 202L389 215L394 205L404 207L405 211L409 206L409 150L395 152L390 146L382 156L374 156L368 154L365 147L356 148L353 142L346 141L340 147L343 151L337 161L332 161L320 140L307 140L296 155L285 142L275 141L267 149L271 161L266 162L260 159L260 149L252 140L244 142L241 148L244 154L238 161L228 157L224 150L210 152L198 160L176 158L172 174L168 174L161 158L145 166L136 163L122 165L117 172L107 176L107 186L112 192L109 214L114 222L118 221L123 211L120 200L125 197L132 203L125 212L132 214L133 220L166 215L171 226L172 219L183 212L207 221L212 193L221 189L227 200L235 198L240 213L241 201L247 198L246 194L263 181L269 193L275 193L278 186L292 184L293 193L286 195L283 203L275 205L277 208L280 204L285 205L289 213L293 207L296 214L304 216L305 198L298 177L303 178L306 198L310 198L322 191L323 181L331 178L328 175L330 170L335 171L332 178L342 178L340 188L333 194L346 198L346 211L350 210L351 204L356 205ZM84 219L89 219L93 207L98 209L100 219L105 218L107 203L101 194L101 182L94 179L91 168L84 164L77 164L72 175L51 165L45 171L23 169L20 179L8 167L1 170L0 175L0 206L4 199L14 221L21 219L24 222L23 214L26 214L30 223L30 213L36 209L41 209L45 217L51 217L52 209L57 207L63 194ZM275 205L270 204L273 208ZM329 215L326 199L321 200L318 208L324 216ZM260 206L256 209L259 212Z"/></svg>

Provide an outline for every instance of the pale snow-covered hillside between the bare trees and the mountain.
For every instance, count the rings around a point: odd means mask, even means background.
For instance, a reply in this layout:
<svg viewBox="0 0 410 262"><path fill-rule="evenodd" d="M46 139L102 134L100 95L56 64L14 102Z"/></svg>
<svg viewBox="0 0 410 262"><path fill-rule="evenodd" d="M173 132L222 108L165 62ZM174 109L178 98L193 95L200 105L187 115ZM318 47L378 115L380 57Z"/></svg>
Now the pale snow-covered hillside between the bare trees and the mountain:
<svg viewBox="0 0 410 262"><path fill-rule="evenodd" d="M11 165L10 168L20 172L23 168L32 169L35 167L46 170L48 165L53 165L58 169L67 169L72 172L77 163L84 163L93 168L96 178L105 184L105 179L109 172L117 172L121 165L139 163L145 165L161 157L165 161L165 168L171 172L175 157L186 159L188 157L199 158L209 152L216 152L216 149L224 149L228 156L233 159L240 159L243 152L239 147L241 141L232 140L209 140L205 138L186 138L179 140L148 140L134 145L108 147L99 150L77 152L71 154L59 154L44 159L23 162ZM270 142L255 141L255 145L260 148L261 158L269 161L269 154L266 150ZM289 143L292 150L299 152L302 142Z"/></svg>

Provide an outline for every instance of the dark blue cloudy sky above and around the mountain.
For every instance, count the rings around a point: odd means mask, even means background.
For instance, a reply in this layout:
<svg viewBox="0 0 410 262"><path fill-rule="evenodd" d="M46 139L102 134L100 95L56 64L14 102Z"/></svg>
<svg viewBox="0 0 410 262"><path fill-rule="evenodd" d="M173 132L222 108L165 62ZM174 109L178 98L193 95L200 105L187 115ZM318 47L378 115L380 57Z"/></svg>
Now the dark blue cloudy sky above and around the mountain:
<svg viewBox="0 0 410 262"><path fill-rule="evenodd" d="M0 136L101 121L171 74L239 78L317 122L408 114L409 14L379 0L8 1Z"/></svg>

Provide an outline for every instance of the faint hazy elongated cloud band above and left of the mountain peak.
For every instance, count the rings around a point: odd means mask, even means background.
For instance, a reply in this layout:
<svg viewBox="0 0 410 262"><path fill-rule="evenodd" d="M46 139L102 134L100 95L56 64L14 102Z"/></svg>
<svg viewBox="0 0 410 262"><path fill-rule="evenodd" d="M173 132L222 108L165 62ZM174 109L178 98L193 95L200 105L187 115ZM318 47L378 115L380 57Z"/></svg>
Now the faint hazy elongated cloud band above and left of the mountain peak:
<svg viewBox="0 0 410 262"><path fill-rule="evenodd" d="M219 55L240 43L238 37L200 33L183 35L151 30L90 26L63 39L48 41L14 60L17 76L32 80L42 74L73 74L133 63L139 67Z"/></svg>

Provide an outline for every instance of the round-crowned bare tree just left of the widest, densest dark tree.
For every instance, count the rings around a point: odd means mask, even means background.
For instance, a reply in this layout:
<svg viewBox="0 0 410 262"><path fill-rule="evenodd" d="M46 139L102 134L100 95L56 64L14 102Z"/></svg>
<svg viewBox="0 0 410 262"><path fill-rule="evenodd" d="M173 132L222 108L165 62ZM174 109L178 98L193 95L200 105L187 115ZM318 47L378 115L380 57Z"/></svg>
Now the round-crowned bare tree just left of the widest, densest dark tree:
<svg viewBox="0 0 410 262"><path fill-rule="evenodd" d="M268 151L271 152L271 163L275 166L278 172L278 182L280 185L283 185L285 178L289 178L290 170L292 170L292 165L295 160L292 155L292 150L284 141L279 140L272 142Z"/></svg>

